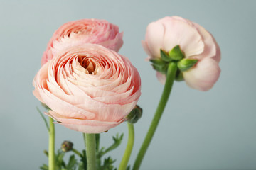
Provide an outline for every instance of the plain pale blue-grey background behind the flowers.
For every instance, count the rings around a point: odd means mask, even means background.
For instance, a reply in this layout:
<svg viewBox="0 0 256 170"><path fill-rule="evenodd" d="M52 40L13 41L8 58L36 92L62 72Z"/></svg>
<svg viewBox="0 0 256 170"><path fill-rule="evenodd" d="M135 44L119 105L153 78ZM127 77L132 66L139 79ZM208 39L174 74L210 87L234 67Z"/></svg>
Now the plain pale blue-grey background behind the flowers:
<svg viewBox="0 0 256 170"><path fill-rule="evenodd" d="M135 125L133 164L154 115L163 86L142 49L146 26L178 15L199 23L215 36L222 52L220 79L207 92L175 83L141 169L256 169L256 1L0 1L0 169L38 169L47 159L48 134L33 96L32 80L53 32L68 21L102 18L124 31L119 51L142 77ZM41 108L42 109L42 108ZM72 140L83 149L82 135L56 126L56 145ZM127 140L123 123L102 134L102 146L125 132L111 153L119 165Z"/></svg>

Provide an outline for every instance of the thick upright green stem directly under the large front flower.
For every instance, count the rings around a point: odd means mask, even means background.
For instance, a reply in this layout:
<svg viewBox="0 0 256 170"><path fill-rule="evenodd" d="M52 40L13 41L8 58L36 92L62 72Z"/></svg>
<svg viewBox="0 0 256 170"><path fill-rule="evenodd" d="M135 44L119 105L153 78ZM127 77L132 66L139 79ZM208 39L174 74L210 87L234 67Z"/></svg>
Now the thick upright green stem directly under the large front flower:
<svg viewBox="0 0 256 170"><path fill-rule="evenodd" d="M95 134L85 134L87 169L96 170L96 141Z"/></svg>

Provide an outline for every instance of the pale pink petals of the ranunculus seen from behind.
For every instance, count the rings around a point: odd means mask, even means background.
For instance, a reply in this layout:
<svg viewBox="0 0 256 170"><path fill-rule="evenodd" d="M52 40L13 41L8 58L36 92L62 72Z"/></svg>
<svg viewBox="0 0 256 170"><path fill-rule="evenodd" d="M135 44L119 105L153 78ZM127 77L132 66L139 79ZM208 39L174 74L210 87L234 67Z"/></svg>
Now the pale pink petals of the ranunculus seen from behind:
<svg viewBox="0 0 256 170"><path fill-rule="evenodd" d="M169 52L176 45L186 58L197 59L194 67L183 72L186 84L193 89L207 91L220 76L220 47L207 30L187 19L167 16L150 23L142 45L149 59L160 58L160 49ZM165 82L165 74L157 72L156 76Z"/></svg>

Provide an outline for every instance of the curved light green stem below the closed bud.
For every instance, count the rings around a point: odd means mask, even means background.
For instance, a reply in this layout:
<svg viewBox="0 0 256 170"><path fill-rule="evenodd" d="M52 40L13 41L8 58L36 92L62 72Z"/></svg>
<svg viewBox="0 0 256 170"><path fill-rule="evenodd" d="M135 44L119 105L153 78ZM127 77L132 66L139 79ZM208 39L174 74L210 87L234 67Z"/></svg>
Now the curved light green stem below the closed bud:
<svg viewBox="0 0 256 170"><path fill-rule="evenodd" d="M129 157L132 153L132 147L134 145L134 125L132 123L127 123L128 125L128 141L127 148L125 149L124 156L122 157L122 161L119 165L119 170L127 169L127 164L129 162Z"/></svg>

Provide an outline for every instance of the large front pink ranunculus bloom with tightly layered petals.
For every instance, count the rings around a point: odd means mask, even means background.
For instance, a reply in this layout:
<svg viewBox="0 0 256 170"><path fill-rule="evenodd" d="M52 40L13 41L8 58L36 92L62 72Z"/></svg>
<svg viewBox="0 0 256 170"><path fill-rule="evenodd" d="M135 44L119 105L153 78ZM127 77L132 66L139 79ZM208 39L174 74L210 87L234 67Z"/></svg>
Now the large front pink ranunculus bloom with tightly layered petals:
<svg viewBox="0 0 256 170"><path fill-rule="evenodd" d="M72 130L100 133L126 120L141 95L137 69L127 57L102 45L60 51L33 80L46 113Z"/></svg>

